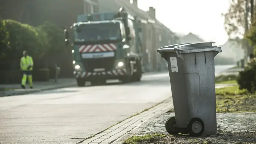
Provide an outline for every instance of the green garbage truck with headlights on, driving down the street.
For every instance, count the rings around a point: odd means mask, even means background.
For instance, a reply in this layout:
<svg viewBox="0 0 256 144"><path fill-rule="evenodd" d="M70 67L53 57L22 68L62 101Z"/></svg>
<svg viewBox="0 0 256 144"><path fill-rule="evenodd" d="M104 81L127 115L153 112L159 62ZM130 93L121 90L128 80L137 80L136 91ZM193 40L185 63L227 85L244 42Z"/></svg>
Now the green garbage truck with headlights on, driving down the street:
<svg viewBox="0 0 256 144"><path fill-rule="evenodd" d="M105 84L110 79L123 83L140 81L141 22L136 16L121 7L118 12L83 14L77 19L64 33L66 45L73 48L78 86L84 86L86 81Z"/></svg>

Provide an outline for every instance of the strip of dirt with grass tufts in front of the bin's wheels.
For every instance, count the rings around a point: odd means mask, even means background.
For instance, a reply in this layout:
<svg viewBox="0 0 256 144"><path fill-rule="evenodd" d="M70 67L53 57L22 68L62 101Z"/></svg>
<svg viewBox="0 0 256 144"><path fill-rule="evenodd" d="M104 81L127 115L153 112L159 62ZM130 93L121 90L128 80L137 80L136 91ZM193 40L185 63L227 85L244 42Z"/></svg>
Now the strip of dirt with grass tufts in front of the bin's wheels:
<svg viewBox="0 0 256 144"><path fill-rule="evenodd" d="M154 137L140 144L256 144L256 132L223 132L202 137L190 137L189 135L165 135Z"/></svg>

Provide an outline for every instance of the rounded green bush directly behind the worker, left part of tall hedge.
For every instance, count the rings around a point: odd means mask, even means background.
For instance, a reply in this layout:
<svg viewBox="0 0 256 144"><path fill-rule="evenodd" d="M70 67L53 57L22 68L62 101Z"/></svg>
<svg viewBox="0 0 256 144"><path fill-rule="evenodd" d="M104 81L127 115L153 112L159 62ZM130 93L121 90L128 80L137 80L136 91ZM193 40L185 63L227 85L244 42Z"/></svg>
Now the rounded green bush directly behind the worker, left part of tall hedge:
<svg viewBox="0 0 256 144"><path fill-rule="evenodd" d="M12 66L12 69L19 66L20 57L24 50L27 50L34 60L40 59L45 55L49 48L45 32L15 20L3 20L3 25L6 31L9 32L10 45L10 49L4 47L5 60L10 60L9 65Z"/></svg>

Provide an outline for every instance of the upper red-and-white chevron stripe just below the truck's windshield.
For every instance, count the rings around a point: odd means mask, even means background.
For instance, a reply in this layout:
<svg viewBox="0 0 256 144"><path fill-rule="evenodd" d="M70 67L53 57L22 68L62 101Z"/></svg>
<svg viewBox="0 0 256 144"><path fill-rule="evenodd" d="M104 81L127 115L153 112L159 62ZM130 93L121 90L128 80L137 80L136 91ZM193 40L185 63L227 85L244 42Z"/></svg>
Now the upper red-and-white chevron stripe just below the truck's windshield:
<svg viewBox="0 0 256 144"><path fill-rule="evenodd" d="M110 52L116 50L116 44L80 45L79 52Z"/></svg>

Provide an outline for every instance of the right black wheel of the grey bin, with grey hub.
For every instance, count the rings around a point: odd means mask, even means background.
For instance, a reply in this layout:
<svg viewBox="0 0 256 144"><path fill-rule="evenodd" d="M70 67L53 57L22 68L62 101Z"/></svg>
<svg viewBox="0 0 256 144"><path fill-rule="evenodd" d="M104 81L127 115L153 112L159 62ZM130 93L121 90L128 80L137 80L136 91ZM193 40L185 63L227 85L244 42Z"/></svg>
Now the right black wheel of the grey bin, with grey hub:
<svg viewBox="0 0 256 144"><path fill-rule="evenodd" d="M199 137L204 132L204 122L200 118L192 118L187 125L190 136Z"/></svg>

